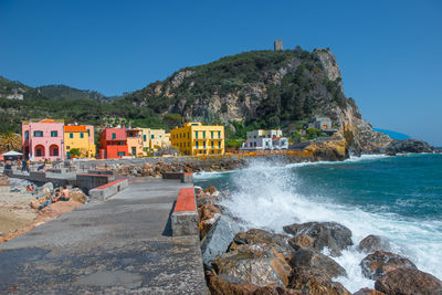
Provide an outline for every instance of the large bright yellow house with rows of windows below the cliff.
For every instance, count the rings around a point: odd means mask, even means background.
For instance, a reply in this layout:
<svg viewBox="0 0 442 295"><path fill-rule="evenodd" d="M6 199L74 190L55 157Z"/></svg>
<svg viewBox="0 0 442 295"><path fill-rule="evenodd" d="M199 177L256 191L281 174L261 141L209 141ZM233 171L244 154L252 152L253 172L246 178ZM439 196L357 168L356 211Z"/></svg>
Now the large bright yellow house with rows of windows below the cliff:
<svg viewBox="0 0 442 295"><path fill-rule="evenodd" d="M224 126L186 123L183 127L170 130L170 141L182 155L223 155Z"/></svg>

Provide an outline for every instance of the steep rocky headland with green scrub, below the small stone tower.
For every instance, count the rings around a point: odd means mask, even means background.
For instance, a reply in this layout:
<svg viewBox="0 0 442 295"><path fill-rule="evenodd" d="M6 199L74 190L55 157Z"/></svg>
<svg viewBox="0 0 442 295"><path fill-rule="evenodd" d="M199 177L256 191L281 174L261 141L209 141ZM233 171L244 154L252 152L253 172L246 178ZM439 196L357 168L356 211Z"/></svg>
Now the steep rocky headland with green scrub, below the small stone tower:
<svg viewBox="0 0 442 295"><path fill-rule="evenodd" d="M375 133L356 103L345 96L339 66L328 49L228 56L176 72L125 99L161 114L223 124L249 119L272 127L325 115L338 129L335 139L345 138L356 154L391 141Z"/></svg>

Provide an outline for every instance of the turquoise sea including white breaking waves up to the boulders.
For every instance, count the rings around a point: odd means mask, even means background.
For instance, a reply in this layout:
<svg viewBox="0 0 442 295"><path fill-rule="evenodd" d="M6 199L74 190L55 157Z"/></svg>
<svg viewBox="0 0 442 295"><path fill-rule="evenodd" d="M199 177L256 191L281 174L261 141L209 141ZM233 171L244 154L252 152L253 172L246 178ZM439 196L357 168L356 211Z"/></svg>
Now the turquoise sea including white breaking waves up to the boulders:
<svg viewBox="0 0 442 295"><path fill-rule="evenodd" d="M220 203L245 230L284 233L284 225L308 221L349 228L355 245L335 261L348 273L336 281L350 292L375 286L359 266L367 254L356 250L369 234L388 238L392 252L442 280L441 154L291 165L254 160L241 170L196 175L194 185L229 191Z"/></svg>

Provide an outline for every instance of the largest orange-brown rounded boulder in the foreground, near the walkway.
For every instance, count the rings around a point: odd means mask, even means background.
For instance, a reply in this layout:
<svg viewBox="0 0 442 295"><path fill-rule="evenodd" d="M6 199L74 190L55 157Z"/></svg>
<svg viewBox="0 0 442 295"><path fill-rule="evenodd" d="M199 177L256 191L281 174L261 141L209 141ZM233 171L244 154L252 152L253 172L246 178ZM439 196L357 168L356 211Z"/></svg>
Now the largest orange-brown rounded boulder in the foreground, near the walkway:
<svg viewBox="0 0 442 295"><path fill-rule="evenodd" d="M217 274L227 274L257 286L286 286L291 267L273 247L239 245L212 263Z"/></svg>

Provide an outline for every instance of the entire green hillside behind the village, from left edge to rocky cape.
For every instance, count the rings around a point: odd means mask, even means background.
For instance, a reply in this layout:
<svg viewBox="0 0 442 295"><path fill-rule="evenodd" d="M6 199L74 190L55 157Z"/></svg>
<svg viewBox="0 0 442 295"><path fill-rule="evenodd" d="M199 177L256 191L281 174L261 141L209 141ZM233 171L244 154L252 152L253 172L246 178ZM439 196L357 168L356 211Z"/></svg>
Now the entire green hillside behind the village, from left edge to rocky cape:
<svg viewBox="0 0 442 295"><path fill-rule="evenodd" d="M328 49L308 52L297 46L225 56L180 70L113 102L64 85L22 87L23 101L0 98L1 128L17 130L22 119L44 116L140 127L172 127L182 119L198 119L225 124L229 137L243 138L246 130L261 127L283 127L295 136L309 118L325 115L338 129L336 137L345 138L356 151L391 141L375 133L361 119L355 101L345 96L339 67Z"/></svg>

